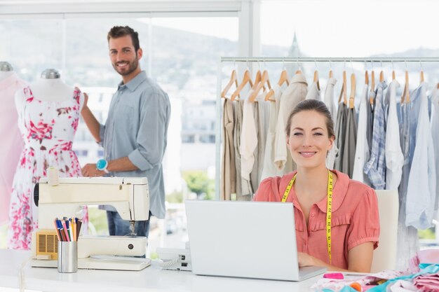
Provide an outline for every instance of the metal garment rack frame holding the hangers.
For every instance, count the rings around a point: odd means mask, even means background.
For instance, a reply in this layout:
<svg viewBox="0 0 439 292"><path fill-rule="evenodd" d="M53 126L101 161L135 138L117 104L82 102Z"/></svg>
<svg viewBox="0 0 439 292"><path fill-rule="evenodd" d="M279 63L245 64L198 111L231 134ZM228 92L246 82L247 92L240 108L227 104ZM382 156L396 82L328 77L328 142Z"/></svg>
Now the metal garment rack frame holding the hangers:
<svg viewBox="0 0 439 292"><path fill-rule="evenodd" d="M219 179L221 177L221 76L222 64L235 62L284 62L284 63L339 63L339 62L361 62L361 63L435 63L439 57L219 57L217 69L217 111L215 124L215 200L219 200Z"/></svg>

